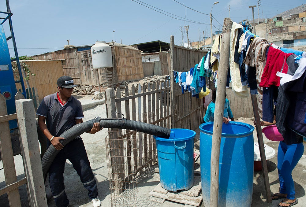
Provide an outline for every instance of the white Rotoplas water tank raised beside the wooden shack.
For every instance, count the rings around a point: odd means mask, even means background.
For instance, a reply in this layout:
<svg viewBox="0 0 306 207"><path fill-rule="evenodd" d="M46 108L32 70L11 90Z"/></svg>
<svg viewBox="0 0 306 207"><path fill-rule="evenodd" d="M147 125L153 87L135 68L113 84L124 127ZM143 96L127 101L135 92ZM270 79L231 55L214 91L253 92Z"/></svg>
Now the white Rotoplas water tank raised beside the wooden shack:
<svg viewBox="0 0 306 207"><path fill-rule="evenodd" d="M97 41L91 47L91 60L93 68L113 67L112 47L105 41Z"/></svg>

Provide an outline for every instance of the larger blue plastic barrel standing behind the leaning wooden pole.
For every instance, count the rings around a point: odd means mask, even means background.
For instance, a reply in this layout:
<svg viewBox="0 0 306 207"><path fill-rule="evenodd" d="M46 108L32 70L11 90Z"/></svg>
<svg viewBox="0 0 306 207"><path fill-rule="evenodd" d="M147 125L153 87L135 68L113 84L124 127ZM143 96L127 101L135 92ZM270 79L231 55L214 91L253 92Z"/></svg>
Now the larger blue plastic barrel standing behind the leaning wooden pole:
<svg viewBox="0 0 306 207"><path fill-rule="evenodd" d="M200 125L200 168L204 206L210 206L213 122ZM218 206L251 206L254 173L254 127L241 122L222 125Z"/></svg>

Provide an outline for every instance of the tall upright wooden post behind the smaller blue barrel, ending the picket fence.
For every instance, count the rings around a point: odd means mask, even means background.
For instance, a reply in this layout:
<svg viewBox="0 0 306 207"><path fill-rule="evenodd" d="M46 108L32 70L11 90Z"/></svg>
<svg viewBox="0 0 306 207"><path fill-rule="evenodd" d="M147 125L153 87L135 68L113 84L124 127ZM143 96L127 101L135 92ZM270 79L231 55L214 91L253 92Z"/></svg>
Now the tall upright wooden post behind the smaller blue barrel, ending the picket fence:
<svg viewBox="0 0 306 207"><path fill-rule="evenodd" d="M170 85L171 85L171 128L175 124L175 103L174 103L174 35L170 36Z"/></svg>

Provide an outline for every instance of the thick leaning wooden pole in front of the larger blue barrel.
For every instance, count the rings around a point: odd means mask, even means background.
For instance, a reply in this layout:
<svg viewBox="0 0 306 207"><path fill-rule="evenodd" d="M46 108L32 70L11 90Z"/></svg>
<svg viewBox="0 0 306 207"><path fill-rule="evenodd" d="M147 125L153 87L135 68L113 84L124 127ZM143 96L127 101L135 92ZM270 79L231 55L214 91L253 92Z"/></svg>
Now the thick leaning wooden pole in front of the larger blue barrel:
<svg viewBox="0 0 306 207"><path fill-rule="evenodd" d="M211 187L210 206L218 206L219 195L219 156L223 123L223 111L225 102L226 78L230 58L230 31L233 22L230 18L225 18L222 29L222 43L220 54L220 65L218 68L218 87L216 95L214 127L211 146Z"/></svg>

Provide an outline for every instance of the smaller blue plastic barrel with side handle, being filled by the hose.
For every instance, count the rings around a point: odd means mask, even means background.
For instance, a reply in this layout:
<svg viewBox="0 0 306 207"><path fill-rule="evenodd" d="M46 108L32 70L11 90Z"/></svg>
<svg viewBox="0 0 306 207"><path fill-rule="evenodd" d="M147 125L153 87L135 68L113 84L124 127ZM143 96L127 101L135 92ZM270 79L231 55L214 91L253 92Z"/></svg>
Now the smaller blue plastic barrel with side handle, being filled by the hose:
<svg viewBox="0 0 306 207"><path fill-rule="evenodd" d="M170 138L155 137L161 186L169 191L193 186L193 138L190 129L171 129Z"/></svg>

